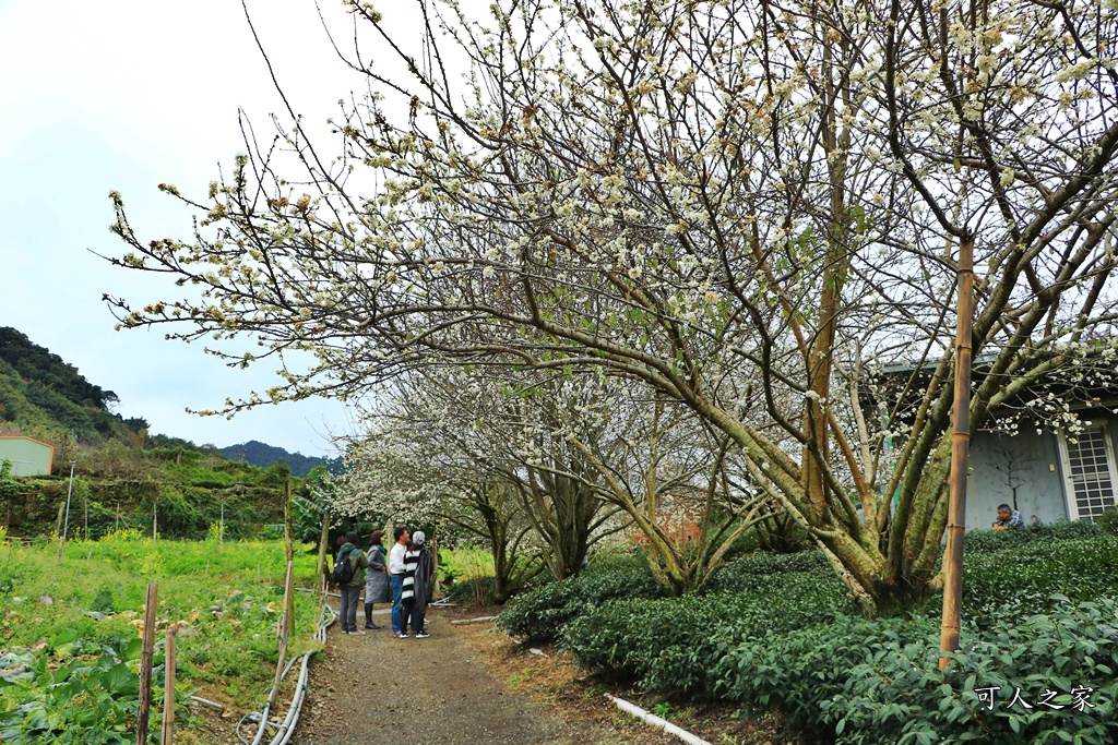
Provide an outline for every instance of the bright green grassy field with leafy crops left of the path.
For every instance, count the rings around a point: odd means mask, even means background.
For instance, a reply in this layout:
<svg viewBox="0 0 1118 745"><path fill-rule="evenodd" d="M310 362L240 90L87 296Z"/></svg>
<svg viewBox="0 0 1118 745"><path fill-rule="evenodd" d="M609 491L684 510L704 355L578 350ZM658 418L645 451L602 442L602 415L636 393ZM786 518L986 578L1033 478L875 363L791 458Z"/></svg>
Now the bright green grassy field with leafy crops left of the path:
<svg viewBox="0 0 1118 745"><path fill-rule="evenodd" d="M227 542L219 551L212 539L152 542L124 532L68 542L61 567L57 542L0 546L0 742L134 741L149 582L159 583L157 666L165 629L180 627L177 699L197 694L262 708L277 659L284 571L282 541ZM296 546L295 577L304 588L315 577L305 546ZM311 643L318 618L316 598L296 592L293 653ZM186 707L177 717L190 727Z"/></svg>

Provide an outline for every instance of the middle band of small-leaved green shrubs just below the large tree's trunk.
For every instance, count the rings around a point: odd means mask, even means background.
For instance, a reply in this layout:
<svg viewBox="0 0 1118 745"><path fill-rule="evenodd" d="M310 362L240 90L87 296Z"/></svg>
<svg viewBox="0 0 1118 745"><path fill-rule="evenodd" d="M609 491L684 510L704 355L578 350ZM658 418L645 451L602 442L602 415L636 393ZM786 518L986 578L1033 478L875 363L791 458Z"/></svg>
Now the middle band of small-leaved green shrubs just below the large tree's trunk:
<svg viewBox="0 0 1118 745"><path fill-rule="evenodd" d="M719 660L745 638L854 612L837 581L804 572L752 579L748 594L608 602L568 622L560 642L584 668L709 695Z"/></svg>

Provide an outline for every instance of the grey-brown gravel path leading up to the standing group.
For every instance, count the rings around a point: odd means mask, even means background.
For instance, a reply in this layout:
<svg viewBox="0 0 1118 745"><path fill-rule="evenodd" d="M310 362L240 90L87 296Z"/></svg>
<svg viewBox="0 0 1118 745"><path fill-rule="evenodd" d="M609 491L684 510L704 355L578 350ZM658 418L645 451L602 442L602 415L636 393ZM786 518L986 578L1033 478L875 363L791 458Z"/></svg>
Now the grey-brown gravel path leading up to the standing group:
<svg viewBox="0 0 1118 745"><path fill-rule="evenodd" d="M437 609L428 639L331 628L311 666L301 745L572 745L572 733L530 700L504 691ZM359 622L363 622L360 619Z"/></svg>

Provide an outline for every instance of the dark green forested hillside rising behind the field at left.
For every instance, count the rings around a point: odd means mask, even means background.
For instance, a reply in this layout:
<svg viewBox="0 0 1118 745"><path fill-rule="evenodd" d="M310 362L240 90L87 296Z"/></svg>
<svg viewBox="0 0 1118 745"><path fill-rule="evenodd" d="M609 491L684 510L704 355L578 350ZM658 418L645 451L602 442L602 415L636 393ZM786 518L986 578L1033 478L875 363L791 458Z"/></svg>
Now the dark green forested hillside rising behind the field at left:
<svg viewBox="0 0 1118 745"><path fill-rule="evenodd" d="M288 469L280 461L294 461L296 476L324 462L255 441L231 446L230 458L212 445L152 436L143 418L113 413L116 401L57 354L0 327L0 434L55 448L50 476L0 491L0 520L11 535L61 528L70 460L70 534L94 538L125 528L199 538L222 517L229 536L259 535L283 519Z"/></svg>

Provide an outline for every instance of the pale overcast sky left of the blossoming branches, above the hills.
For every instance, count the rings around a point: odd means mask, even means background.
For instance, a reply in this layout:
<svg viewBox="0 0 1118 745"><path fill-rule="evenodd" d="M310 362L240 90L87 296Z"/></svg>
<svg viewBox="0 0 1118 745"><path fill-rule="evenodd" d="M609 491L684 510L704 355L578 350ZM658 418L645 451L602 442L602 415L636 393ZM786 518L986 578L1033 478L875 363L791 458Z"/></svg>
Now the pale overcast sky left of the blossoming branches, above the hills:
<svg viewBox="0 0 1118 745"><path fill-rule="evenodd" d="M345 30L337 0L322 0ZM391 3L385 8L389 10ZM359 83L347 76L312 0L249 0L277 77L297 113L324 122ZM233 421L184 409L217 408L274 384L274 365L227 370L200 344L163 331L114 331L102 295L168 299L163 278L114 269L108 192L122 192L144 238L190 232L190 214L157 190L189 195L244 152L238 108L257 131L282 111L240 0L0 0L0 325L114 391L117 411L153 433L219 447L249 439L304 455L349 431L337 402L267 407ZM247 348L247 344L246 344Z"/></svg>

